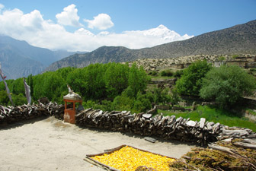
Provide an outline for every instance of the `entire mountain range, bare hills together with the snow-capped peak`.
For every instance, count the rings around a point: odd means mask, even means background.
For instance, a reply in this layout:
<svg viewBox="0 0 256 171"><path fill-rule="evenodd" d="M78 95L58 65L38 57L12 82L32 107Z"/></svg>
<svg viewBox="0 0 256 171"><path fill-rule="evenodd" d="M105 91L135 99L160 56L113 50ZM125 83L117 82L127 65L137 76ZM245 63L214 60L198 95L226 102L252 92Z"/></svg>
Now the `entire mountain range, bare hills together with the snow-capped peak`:
<svg viewBox="0 0 256 171"><path fill-rule="evenodd" d="M92 52L52 51L0 35L0 62L7 79L27 77L67 66L82 68L92 63L131 62L136 59L164 59L188 55L256 54L256 20L199 36L181 36L164 25L141 32L171 43L143 49L101 46ZM68 57L67 57L68 56Z"/></svg>

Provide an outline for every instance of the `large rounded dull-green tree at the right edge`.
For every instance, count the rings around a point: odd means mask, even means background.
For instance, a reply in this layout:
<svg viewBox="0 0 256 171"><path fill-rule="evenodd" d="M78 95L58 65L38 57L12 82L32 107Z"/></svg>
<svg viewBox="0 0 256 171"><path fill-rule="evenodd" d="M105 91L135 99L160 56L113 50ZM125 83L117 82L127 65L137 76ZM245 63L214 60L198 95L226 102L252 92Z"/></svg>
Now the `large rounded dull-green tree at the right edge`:
<svg viewBox="0 0 256 171"><path fill-rule="evenodd" d="M200 97L216 100L222 107L237 103L239 97L251 94L256 88L255 79L236 65L213 68L203 79Z"/></svg>

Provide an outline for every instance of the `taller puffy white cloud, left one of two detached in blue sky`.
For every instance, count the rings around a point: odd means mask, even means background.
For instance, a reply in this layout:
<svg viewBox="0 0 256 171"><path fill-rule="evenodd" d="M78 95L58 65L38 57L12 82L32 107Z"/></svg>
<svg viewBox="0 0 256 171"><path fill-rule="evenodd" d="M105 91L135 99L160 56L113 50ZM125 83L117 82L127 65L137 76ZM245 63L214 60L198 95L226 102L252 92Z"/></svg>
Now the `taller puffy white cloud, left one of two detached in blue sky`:
<svg viewBox="0 0 256 171"><path fill-rule="evenodd" d="M69 5L66 8L63 8L63 11L60 14L56 14L56 18L59 24L64 26L75 26L80 27L82 24L79 23L78 9L75 8L75 5Z"/></svg>

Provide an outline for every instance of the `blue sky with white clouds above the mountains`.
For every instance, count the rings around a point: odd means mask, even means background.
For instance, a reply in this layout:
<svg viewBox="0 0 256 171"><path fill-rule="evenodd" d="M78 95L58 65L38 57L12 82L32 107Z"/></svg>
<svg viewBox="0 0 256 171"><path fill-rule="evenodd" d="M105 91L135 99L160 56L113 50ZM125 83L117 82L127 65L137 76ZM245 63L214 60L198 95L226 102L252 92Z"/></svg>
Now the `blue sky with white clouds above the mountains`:
<svg viewBox="0 0 256 171"><path fill-rule="evenodd" d="M0 0L0 35L92 51L186 40L256 19L256 0Z"/></svg>

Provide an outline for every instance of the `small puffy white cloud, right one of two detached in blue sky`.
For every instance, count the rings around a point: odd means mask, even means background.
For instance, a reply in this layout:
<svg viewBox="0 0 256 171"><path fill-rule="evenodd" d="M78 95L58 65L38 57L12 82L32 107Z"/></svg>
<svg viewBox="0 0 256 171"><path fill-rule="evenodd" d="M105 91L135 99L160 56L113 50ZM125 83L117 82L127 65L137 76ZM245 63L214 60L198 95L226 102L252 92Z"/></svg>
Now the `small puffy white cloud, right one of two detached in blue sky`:
<svg viewBox="0 0 256 171"><path fill-rule="evenodd" d="M114 26L114 23L111 21L111 18L108 14L98 14L96 17L94 17L94 20L86 20L85 22L88 23L88 27L91 29L98 29L98 30L106 30L110 27Z"/></svg>

